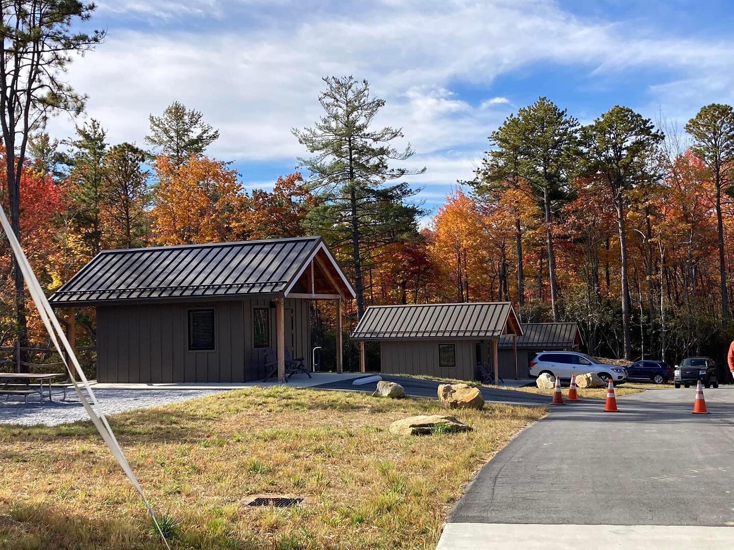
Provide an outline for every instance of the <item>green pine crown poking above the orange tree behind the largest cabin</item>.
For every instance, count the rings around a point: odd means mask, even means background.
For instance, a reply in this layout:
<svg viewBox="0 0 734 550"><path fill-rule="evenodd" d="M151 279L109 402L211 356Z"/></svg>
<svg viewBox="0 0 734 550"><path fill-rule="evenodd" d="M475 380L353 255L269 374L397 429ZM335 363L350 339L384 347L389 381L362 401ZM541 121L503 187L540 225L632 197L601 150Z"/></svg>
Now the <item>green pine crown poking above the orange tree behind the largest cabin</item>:
<svg viewBox="0 0 734 550"><path fill-rule="evenodd" d="M148 120L150 136L145 136L145 141L175 167L189 161L192 155L203 155L206 147L219 139L219 130L204 122L203 114L186 109L178 101L167 106L162 117L151 114Z"/></svg>

